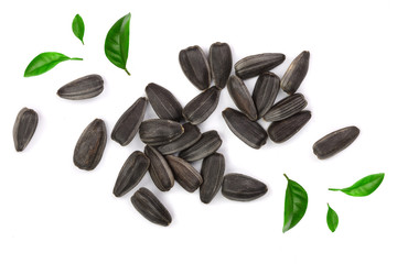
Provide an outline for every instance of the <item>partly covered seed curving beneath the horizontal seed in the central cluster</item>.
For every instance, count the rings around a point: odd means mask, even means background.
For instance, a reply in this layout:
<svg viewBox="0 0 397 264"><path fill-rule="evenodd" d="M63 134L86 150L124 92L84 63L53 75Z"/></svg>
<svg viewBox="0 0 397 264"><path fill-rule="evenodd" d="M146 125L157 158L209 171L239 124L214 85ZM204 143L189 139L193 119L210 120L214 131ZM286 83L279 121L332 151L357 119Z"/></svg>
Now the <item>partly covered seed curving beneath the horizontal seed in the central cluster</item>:
<svg viewBox="0 0 397 264"><path fill-rule="evenodd" d="M158 151L163 155L173 154L190 147L202 136L200 129L194 124L184 123L183 130L184 132L179 139L165 145L158 146Z"/></svg>

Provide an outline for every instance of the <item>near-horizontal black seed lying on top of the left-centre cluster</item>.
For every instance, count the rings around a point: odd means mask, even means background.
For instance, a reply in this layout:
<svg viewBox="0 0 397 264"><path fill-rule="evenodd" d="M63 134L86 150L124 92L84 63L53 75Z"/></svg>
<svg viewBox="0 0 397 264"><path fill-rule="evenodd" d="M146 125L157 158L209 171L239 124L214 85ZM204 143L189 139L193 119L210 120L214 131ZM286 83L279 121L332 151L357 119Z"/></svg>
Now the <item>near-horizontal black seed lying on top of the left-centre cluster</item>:
<svg viewBox="0 0 397 264"><path fill-rule="evenodd" d="M141 141L148 145L163 145L183 134L182 124L165 119L149 119L139 127Z"/></svg>

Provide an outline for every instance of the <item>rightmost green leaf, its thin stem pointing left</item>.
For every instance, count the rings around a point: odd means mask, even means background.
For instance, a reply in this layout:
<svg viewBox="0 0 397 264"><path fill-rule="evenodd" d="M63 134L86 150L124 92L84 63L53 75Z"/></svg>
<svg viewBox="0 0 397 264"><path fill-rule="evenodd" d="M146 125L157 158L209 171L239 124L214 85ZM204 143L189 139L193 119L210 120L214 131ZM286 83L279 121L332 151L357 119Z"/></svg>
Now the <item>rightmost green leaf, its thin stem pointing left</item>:
<svg viewBox="0 0 397 264"><path fill-rule="evenodd" d="M340 190L350 196L362 197L374 193L382 184L385 177L384 173L373 174L357 180L354 185L343 189L329 188L329 190Z"/></svg>

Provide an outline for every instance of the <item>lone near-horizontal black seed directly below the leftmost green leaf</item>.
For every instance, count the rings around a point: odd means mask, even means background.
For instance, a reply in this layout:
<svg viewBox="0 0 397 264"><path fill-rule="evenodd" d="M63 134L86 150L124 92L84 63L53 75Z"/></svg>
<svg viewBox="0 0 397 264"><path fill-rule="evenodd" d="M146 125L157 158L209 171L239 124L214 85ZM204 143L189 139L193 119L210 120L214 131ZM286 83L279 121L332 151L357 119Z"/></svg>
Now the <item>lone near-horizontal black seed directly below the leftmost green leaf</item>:
<svg viewBox="0 0 397 264"><path fill-rule="evenodd" d="M57 90L64 99L83 100L96 97L104 90L104 79L99 75L87 75L75 79Z"/></svg>

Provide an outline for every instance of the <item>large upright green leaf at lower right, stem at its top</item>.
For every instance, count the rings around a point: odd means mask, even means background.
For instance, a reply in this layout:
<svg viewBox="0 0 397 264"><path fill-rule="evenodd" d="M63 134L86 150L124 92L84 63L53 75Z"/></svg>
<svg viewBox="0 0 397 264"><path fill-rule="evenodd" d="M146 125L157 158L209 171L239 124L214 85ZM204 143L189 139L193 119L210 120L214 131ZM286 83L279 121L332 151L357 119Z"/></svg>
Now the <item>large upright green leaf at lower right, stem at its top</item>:
<svg viewBox="0 0 397 264"><path fill-rule="evenodd" d="M286 189L285 221L282 232L287 232L303 218L308 208L308 193L297 182L285 174L288 185Z"/></svg>

